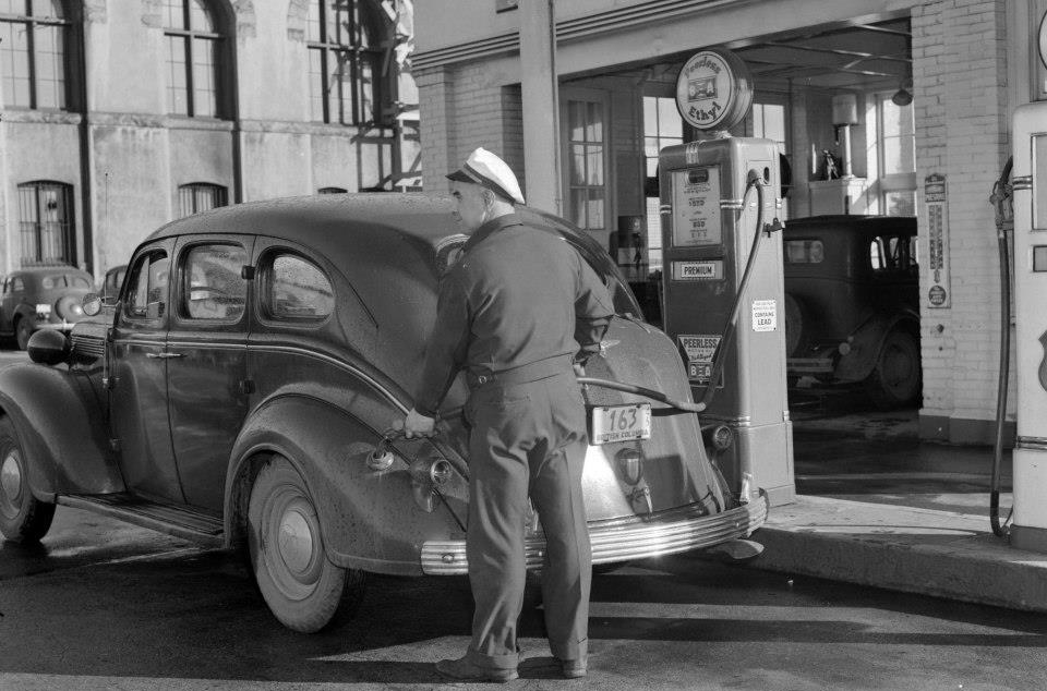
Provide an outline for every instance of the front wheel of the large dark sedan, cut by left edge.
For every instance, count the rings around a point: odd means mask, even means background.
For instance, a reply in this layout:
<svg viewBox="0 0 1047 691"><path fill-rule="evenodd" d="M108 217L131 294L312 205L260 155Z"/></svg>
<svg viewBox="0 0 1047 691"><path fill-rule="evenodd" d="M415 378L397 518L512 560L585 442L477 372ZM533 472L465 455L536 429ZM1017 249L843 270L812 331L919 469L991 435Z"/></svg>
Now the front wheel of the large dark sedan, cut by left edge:
<svg viewBox="0 0 1047 691"><path fill-rule="evenodd" d="M29 472L14 425L0 417L0 533L12 542L39 542L51 528L55 505L29 492Z"/></svg>

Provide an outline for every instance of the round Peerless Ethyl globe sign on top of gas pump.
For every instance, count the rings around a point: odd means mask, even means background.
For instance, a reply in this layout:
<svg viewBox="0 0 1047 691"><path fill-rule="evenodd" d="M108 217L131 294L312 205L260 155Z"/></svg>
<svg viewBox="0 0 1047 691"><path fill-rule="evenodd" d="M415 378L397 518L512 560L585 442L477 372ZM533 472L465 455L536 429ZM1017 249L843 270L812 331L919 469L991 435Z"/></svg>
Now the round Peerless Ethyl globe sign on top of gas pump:
<svg viewBox="0 0 1047 691"><path fill-rule="evenodd" d="M676 77L676 109L699 130L726 130L753 105L753 77L741 58L727 50L702 50L684 63Z"/></svg>

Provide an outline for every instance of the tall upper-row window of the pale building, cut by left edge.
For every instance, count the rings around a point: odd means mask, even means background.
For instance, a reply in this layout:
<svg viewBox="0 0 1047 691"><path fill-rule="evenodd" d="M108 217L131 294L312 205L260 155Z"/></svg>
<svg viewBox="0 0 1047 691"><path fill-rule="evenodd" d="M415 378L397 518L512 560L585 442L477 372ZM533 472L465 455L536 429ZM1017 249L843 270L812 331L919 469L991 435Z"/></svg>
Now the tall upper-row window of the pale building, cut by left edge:
<svg viewBox="0 0 1047 691"><path fill-rule="evenodd" d="M69 26L60 0L0 0L4 106L68 108Z"/></svg>

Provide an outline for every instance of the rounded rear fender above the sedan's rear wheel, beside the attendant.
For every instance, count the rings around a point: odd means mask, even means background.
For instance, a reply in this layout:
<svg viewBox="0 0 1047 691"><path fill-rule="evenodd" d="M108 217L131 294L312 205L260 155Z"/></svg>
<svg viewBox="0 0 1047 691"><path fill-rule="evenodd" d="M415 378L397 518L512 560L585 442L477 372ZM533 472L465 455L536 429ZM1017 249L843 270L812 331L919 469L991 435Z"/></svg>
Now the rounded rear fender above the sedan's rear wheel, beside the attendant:
<svg viewBox="0 0 1047 691"><path fill-rule="evenodd" d="M336 565L381 573L421 574L426 540L462 536L447 507L423 511L412 498L407 462L385 471L368 466L381 433L349 412L306 396L279 396L255 409L233 446L226 476L225 520L230 546L242 540L251 483L272 453L285 456L305 480L316 505L328 558ZM400 453L434 453L423 440L398 443ZM466 516L465 482L445 487L448 504Z"/></svg>

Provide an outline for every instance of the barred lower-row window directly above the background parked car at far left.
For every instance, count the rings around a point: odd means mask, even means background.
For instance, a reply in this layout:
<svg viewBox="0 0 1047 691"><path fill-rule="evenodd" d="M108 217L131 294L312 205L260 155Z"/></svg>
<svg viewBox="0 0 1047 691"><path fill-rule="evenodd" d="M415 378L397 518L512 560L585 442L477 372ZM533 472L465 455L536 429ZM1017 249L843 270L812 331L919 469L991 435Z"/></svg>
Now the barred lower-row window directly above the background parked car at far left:
<svg viewBox="0 0 1047 691"><path fill-rule="evenodd" d="M19 185L22 266L76 264L73 185L34 180Z"/></svg>

